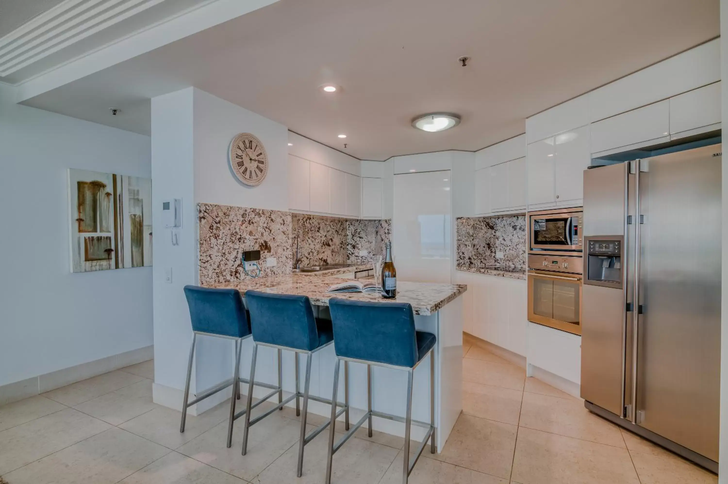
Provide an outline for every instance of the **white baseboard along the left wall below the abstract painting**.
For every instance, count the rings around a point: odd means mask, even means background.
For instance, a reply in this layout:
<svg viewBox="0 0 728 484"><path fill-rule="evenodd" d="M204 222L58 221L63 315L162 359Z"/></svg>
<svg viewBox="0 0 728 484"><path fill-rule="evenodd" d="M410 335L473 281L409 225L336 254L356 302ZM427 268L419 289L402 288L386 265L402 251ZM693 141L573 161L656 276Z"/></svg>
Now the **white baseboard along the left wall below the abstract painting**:
<svg viewBox="0 0 728 484"><path fill-rule="evenodd" d="M47 374L33 376L20 382L9 383L0 386L0 405L23 400L33 395L50 392L56 388L65 387L71 383L108 373L109 371L124 368L124 366L142 363L154 358L154 345L125 351L118 355L111 355L106 358L81 363Z"/></svg>

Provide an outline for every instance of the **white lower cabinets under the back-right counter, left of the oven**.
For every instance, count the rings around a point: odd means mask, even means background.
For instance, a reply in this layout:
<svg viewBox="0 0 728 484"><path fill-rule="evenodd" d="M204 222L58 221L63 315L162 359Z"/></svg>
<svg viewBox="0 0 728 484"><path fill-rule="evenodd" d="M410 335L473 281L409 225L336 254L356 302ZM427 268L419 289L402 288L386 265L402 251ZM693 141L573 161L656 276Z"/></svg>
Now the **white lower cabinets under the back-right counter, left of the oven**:
<svg viewBox="0 0 728 484"><path fill-rule="evenodd" d="M526 356L528 286L522 279L456 271L463 294L467 333Z"/></svg>

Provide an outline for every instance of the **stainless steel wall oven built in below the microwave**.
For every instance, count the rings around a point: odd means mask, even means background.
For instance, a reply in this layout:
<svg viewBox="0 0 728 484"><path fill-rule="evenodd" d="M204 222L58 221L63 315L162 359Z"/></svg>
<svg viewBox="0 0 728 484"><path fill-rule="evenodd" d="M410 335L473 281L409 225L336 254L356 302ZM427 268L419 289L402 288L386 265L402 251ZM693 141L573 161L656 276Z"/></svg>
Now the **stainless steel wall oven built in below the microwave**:
<svg viewBox="0 0 728 484"><path fill-rule="evenodd" d="M529 321L582 334L581 254L529 254Z"/></svg>

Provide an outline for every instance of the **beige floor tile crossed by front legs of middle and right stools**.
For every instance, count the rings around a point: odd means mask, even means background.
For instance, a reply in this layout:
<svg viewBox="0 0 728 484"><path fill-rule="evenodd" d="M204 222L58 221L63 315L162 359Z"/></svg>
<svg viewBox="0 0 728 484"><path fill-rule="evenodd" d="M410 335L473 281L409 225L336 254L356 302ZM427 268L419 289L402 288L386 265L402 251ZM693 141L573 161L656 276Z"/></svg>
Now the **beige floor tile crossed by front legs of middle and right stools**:
<svg viewBox="0 0 728 484"><path fill-rule="evenodd" d="M336 440L339 440L342 435L336 432ZM298 462L298 443L296 443L252 482L256 484L323 483L326 474L328 436L327 429L306 445L301 478L296 477ZM331 483L377 484L384 476L384 472L387 472L389 464L395 460L397 452L397 449L387 445L350 438L333 456Z"/></svg>

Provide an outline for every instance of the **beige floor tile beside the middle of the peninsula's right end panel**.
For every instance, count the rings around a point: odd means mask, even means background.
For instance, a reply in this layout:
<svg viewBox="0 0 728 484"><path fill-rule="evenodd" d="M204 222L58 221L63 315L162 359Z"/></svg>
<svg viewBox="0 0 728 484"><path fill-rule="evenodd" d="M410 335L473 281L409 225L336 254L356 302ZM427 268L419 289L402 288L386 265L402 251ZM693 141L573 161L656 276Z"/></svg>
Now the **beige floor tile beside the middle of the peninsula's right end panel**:
<svg viewBox="0 0 728 484"><path fill-rule="evenodd" d="M464 414L481 419L518 425L518 416L521 414L521 395L523 392L519 390L463 382L462 411Z"/></svg>

